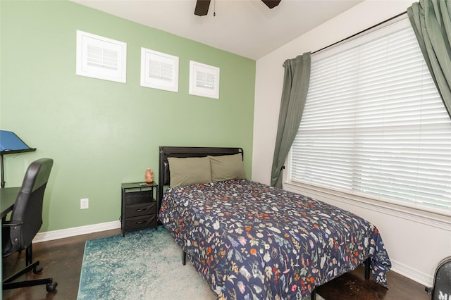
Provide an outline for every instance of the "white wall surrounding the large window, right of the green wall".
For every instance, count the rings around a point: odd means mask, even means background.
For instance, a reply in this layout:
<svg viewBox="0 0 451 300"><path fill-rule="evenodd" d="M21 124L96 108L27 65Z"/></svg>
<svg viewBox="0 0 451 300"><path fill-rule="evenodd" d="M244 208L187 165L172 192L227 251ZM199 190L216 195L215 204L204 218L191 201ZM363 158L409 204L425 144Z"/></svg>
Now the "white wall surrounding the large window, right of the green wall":
<svg viewBox="0 0 451 300"><path fill-rule="evenodd" d="M271 181L283 62L304 52L321 49L405 12L413 2L364 1L257 61L252 180L266 184ZM284 187L293 192L306 193L290 185ZM357 213L374 223L381 231L388 249L392 270L423 285L433 284L435 266L450 255L451 218L399 206L356 203L310 192L317 199Z"/></svg>

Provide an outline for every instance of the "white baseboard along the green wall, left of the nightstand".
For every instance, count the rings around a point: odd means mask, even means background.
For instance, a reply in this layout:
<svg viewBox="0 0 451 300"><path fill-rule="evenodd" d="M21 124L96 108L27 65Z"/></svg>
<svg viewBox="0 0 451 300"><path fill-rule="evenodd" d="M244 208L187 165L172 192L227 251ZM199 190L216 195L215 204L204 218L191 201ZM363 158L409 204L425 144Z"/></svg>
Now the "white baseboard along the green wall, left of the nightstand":
<svg viewBox="0 0 451 300"><path fill-rule="evenodd" d="M75 237L76 235L86 235L92 232L113 230L118 228L121 228L121 221L112 221L80 227L72 227L62 230L39 232L33 239L33 243L47 242L54 239L64 239L66 237Z"/></svg>

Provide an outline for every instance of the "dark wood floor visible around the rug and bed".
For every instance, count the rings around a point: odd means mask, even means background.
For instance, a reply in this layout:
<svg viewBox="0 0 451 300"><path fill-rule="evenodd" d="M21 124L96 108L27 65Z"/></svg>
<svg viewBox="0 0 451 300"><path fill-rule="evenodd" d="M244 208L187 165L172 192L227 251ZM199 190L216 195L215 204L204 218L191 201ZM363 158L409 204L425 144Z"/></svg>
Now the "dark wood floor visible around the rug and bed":
<svg viewBox="0 0 451 300"><path fill-rule="evenodd" d="M119 230L58 239L55 241L34 244L33 254L44 267L42 273L34 275L32 272L23 278L53 277L58 286L56 291L47 293L45 286L25 287L3 291L3 299L77 299L80 270L85 250L85 241L108 235L117 235ZM25 251L14 254L3 260L3 276L9 276L25 265ZM426 300L431 299L424 292L424 286L407 279L393 271L388 272L390 289L377 285L373 280L364 280L364 268L357 268L338 277L326 285L319 287L319 294L327 300ZM123 299L121 299L123 300ZM134 300L134 299L133 299Z"/></svg>

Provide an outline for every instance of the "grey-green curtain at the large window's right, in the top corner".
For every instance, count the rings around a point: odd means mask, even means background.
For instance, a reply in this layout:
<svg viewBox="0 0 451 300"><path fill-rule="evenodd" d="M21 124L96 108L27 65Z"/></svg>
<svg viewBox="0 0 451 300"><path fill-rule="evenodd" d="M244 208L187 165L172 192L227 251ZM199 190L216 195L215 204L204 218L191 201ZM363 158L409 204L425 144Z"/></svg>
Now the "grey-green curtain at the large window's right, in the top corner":
<svg viewBox="0 0 451 300"><path fill-rule="evenodd" d="M420 0L407 8L421 52L451 117L451 1Z"/></svg>

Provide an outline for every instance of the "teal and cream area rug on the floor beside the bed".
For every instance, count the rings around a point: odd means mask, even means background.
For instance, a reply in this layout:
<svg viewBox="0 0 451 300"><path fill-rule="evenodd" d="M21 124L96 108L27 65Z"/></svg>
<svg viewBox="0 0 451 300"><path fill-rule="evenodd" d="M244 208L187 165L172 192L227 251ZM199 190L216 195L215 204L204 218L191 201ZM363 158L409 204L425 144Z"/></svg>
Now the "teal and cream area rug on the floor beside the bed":
<svg viewBox="0 0 451 300"><path fill-rule="evenodd" d="M162 226L86 242L78 300L216 299ZM321 300L321 296L316 296Z"/></svg>

